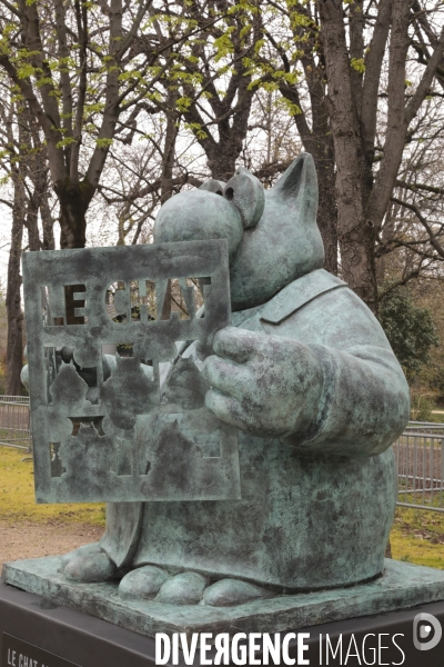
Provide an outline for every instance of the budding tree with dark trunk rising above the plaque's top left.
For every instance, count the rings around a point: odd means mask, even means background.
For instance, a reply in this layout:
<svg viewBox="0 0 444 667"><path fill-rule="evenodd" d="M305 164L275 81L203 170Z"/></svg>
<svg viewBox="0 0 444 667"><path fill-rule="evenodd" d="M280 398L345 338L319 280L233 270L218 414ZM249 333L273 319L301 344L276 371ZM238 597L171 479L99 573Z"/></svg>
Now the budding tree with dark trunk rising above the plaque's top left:
<svg viewBox="0 0 444 667"><path fill-rule="evenodd" d="M143 110L171 51L141 49L151 0L4 0L0 67L44 136L62 248L83 247L85 213L115 137ZM184 28L175 46L193 27ZM170 44L171 47L172 44ZM167 58L165 58L167 53ZM163 59L162 59L163 58Z"/></svg>

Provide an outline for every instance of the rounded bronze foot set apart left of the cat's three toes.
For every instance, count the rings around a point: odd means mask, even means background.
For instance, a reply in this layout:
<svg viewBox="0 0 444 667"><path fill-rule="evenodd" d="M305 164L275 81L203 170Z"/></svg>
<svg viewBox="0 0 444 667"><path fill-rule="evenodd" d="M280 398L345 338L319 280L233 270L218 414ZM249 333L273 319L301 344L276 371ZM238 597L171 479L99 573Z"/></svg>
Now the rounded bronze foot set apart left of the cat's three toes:
<svg viewBox="0 0 444 667"><path fill-rule="evenodd" d="M70 551L62 558L61 573L70 581L92 584L118 578L119 570L98 542Z"/></svg>

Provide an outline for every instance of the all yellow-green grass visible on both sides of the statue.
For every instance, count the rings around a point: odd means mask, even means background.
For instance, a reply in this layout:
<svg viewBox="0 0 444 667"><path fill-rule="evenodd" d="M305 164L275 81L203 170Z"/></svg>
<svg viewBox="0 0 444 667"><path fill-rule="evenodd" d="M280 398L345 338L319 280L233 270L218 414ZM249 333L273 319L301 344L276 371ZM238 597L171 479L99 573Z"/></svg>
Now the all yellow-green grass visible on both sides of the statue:
<svg viewBox="0 0 444 667"><path fill-rule="evenodd" d="M0 520L104 526L104 505L36 505L32 462L0 447ZM393 558L444 569L444 514L398 507L391 532Z"/></svg>

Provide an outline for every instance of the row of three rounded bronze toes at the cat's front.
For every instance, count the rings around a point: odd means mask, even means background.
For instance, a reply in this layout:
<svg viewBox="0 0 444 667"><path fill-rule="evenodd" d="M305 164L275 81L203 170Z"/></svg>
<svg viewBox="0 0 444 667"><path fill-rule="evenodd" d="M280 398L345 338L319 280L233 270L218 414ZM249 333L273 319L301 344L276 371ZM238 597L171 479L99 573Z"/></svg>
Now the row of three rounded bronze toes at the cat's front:
<svg viewBox="0 0 444 667"><path fill-rule="evenodd" d="M125 599L155 600L168 605L209 605L234 607L272 597L265 588L239 579L221 579L210 584L198 573L169 575L160 567L147 565L123 577L119 594Z"/></svg>

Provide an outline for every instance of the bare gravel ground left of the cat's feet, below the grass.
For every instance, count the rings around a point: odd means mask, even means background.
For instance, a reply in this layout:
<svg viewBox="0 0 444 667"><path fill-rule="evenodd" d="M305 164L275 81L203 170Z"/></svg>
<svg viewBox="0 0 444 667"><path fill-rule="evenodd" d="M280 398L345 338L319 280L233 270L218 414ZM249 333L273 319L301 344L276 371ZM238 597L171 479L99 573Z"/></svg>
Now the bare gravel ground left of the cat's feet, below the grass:
<svg viewBox="0 0 444 667"><path fill-rule="evenodd" d="M67 554L98 541L103 528L83 524L9 524L0 521L0 569L8 560Z"/></svg>

